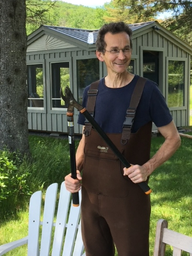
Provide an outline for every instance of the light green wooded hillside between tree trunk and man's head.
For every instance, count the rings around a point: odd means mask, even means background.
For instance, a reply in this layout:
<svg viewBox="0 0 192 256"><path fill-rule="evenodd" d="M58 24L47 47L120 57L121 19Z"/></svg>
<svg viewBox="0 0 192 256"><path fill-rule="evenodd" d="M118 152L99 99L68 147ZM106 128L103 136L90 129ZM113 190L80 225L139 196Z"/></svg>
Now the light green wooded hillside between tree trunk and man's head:
<svg viewBox="0 0 192 256"><path fill-rule="evenodd" d="M90 8L50 0L27 0L26 4L28 35L42 24L84 29L99 29L104 24L104 8Z"/></svg>

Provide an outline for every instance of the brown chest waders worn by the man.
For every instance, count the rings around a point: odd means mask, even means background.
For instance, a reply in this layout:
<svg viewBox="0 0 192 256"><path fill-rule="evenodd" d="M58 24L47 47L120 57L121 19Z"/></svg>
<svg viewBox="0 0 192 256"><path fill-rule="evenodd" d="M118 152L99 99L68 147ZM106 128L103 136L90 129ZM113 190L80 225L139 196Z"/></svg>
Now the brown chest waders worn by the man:
<svg viewBox="0 0 192 256"><path fill-rule="evenodd" d="M151 122L131 134L108 134L131 164L150 157ZM123 175L122 163L92 129L85 137L82 184L82 235L86 256L148 256L150 196Z"/></svg>

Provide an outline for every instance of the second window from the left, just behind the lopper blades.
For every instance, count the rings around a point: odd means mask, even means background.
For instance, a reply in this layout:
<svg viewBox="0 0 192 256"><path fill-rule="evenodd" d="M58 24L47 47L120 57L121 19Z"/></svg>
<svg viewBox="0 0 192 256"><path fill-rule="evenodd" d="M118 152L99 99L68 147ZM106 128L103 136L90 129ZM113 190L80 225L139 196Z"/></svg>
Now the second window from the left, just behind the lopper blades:
<svg viewBox="0 0 192 256"><path fill-rule="evenodd" d="M69 62L60 62L51 64L51 82L52 82L52 108L66 108L65 102L61 100L60 88L63 93L65 87L70 87Z"/></svg>

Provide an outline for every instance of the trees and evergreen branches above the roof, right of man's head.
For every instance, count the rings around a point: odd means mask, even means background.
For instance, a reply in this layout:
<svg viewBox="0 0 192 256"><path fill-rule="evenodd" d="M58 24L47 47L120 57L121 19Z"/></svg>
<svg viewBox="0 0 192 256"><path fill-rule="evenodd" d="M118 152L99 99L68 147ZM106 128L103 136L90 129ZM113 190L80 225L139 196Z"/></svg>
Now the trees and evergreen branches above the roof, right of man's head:
<svg viewBox="0 0 192 256"><path fill-rule="evenodd" d="M104 20L106 22L122 20L132 24L156 20L160 13L171 13L171 17L159 20L159 22L163 22L164 27L192 44L191 0L113 0L105 7L107 12Z"/></svg>

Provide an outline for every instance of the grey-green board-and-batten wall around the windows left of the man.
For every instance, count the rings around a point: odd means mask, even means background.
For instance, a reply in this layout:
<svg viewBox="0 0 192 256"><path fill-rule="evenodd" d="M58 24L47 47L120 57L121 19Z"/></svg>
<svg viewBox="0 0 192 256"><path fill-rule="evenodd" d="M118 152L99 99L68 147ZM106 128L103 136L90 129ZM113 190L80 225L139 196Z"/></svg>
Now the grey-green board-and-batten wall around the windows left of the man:
<svg viewBox="0 0 192 256"><path fill-rule="evenodd" d="M44 108L28 108L28 128L29 130L33 131L67 133L67 109L51 109L51 63L65 61L69 62L70 88L74 94L75 99L77 99L76 60L82 60L84 58L96 58L95 51L85 51L83 49L71 47L71 45L68 45L68 49L65 47L65 49L54 49L49 50L49 52L42 52L43 47L40 47L39 45L40 42L38 42L38 47L41 49L41 52L28 52L27 64L43 65L45 95ZM35 49L34 45L33 49ZM78 115L79 112L77 109L74 109L74 132L76 134L81 134L82 127L81 125L77 125Z"/></svg>

